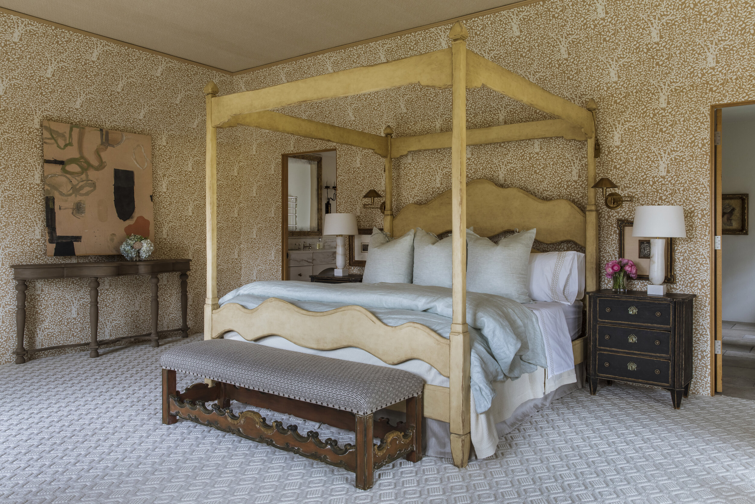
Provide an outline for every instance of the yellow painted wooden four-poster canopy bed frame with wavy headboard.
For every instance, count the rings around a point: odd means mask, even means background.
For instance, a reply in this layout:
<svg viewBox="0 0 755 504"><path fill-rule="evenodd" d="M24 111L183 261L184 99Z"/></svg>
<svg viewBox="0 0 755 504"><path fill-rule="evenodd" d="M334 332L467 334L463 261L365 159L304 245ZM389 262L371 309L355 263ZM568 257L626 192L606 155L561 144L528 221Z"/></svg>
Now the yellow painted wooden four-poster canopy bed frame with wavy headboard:
<svg viewBox="0 0 755 504"><path fill-rule="evenodd" d="M467 29L456 23L448 33L451 47L402 60L360 66L294 82L217 96L217 85L205 86L207 107L207 298L205 339L239 332L254 340L281 335L307 348L331 350L357 347L386 363L421 359L449 379L449 388L426 385L425 416L450 423L451 453L458 467L467 465L470 453L470 335L466 320L465 229L475 226L482 236L513 227L537 227L537 239L546 243L572 240L585 247L588 290L598 283L598 227L595 184L594 101L587 109L556 96L515 73L467 49ZM347 97L402 85L420 84L451 88L452 130L432 135L393 138L393 130L372 135L286 116L270 109L313 100ZM559 119L467 130L467 88L486 86ZM453 317L448 339L419 323L387 326L359 306L326 312L304 311L277 298L253 310L228 303L218 308L217 298L217 128L248 125L307 138L319 138L373 150L385 158L384 230L396 234L421 225L424 229L453 233ZM543 201L517 189L475 181L467 187L467 145L534 138L562 137L587 142L587 212L566 200ZM411 150L451 147L451 190L423 206L408 205L393 219L392 159ZM469 191L469 198L467 197ZM503 191L503 193L501 193ZM502 199L503 198L503 199ZM492 201L505 202L510 211L489 212ZM485 203L488 202L488 203ZM498 203L501 206L501 203ZM483 212L482 209L485 209ZM467 211L470 211L470 217ZM450 216L450 220L449 220ZM359 331L354 328L359 327ZM581 339L581 340L584 340ZM577 340L580 342L581 340ZM575 363L582 361L575 344ZM579 360L578 360L579 359Z"/></svg>

